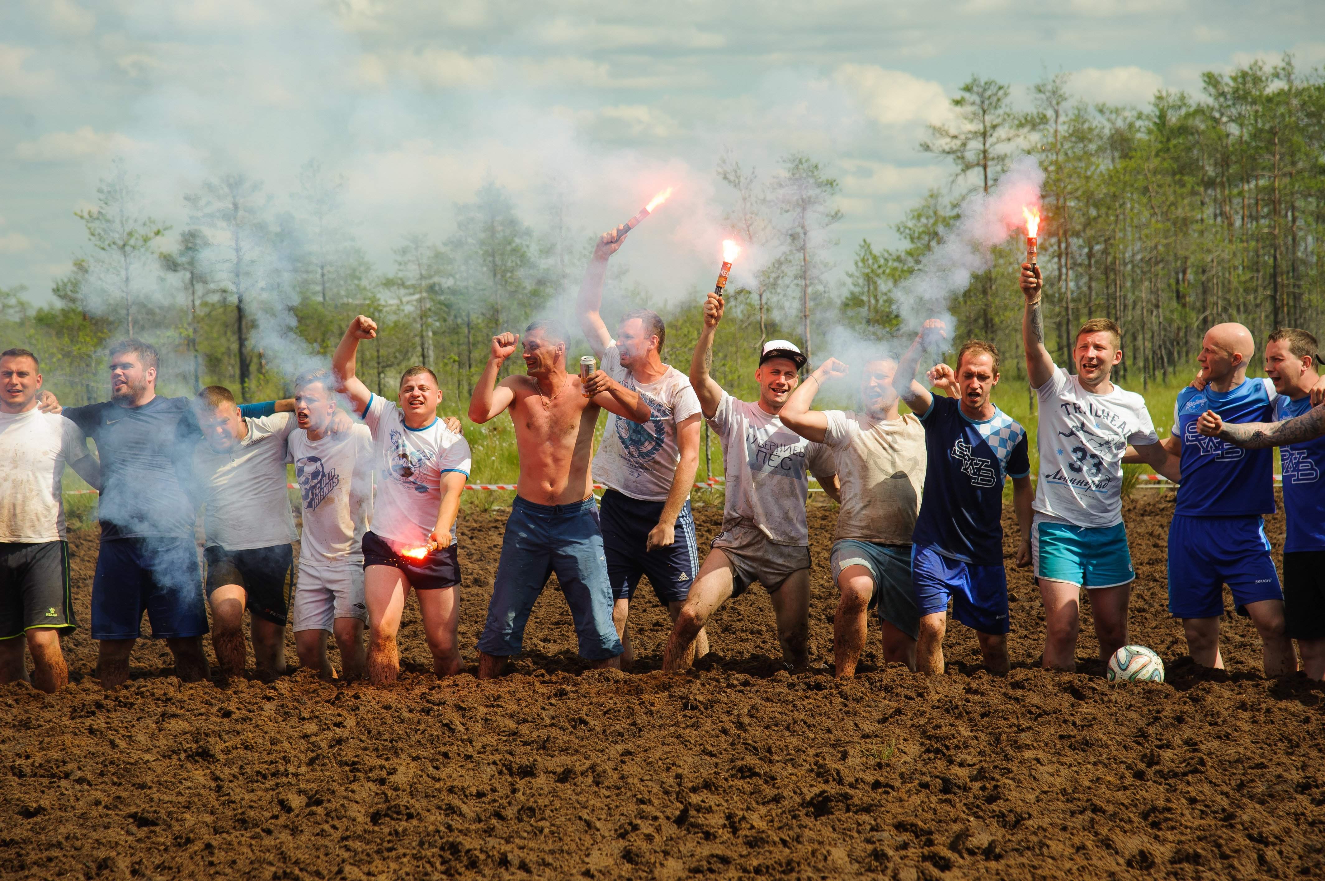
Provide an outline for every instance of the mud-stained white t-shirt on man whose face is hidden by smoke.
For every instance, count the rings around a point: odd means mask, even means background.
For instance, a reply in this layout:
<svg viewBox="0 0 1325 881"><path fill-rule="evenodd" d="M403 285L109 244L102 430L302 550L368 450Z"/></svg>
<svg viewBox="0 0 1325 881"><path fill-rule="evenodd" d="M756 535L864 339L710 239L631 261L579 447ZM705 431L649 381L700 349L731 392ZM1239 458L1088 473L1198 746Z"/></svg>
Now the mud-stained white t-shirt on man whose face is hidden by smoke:
<svg viewBox="0 0 1325 881"><path fill-rule="evenodd" d="M835 538L910 544L925 489L925 427L913 415L874 420L829 409L824 445L841 484Z"/></svg>

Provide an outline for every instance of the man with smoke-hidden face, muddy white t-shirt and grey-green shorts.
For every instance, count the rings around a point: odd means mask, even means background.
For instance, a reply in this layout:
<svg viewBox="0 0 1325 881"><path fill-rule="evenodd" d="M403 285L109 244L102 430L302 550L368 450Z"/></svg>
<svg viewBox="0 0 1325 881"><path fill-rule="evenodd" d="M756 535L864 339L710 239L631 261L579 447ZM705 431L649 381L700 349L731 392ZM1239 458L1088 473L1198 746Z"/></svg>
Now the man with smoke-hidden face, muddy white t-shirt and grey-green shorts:
<svg viewBox="0 0 1325 881"><path fill-rule="evenodd" d="M778 413L782 424L827 445L836 458L841 509L829 558L841 597L833 616L837 678L856 674L869 611L878 608L884 661L916 669L920 615L910 579L912 531L925 486L925 429L902 416L893 389L897 360L880 356L860 376L861 412L810 409L824 382L847 375L829 358Z"/></svg>

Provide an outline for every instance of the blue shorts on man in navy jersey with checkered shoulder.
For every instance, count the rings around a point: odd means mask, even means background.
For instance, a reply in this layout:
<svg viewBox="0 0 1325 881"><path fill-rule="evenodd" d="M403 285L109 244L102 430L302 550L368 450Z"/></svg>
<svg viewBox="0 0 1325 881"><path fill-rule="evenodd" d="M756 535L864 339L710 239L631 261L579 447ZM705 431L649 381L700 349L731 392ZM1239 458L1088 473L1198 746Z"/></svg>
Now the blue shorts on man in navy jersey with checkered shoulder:
<svg viewBox="0 0 1325 881"><path fill-rule="evenodd" d="M1007 572L1003 564L975 566L943 556L926 544L912 547L912 583L920 615L946 612L980 633L1012 629L1007 615Z"/></svg>

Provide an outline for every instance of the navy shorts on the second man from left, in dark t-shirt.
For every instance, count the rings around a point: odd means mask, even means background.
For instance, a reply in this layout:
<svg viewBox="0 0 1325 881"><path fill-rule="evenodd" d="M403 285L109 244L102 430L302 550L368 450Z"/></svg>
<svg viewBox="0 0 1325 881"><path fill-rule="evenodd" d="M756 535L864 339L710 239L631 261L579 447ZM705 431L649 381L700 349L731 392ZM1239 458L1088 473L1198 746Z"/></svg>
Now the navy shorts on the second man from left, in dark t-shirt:
<svg viewBox="0 0 1325 881"><path fill-rule="evenodd" d="M143 635L143 612L159 640L207 633L203 571L192 538L101 541L91 582L91 637L136 640Z"/></svg>

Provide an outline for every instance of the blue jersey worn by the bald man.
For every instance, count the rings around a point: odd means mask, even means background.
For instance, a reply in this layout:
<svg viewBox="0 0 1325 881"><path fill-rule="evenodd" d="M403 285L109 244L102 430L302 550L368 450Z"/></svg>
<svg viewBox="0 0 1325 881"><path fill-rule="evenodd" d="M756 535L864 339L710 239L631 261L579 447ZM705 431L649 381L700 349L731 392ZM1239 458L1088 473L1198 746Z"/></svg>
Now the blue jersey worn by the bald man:
<svg viewBox="0 0 1325 881"><path fill-rule="evenodd" d="M1212 409L1226 423L1268 423L1275 417L1273 383L1246 379L1227 392L1191 386L1178 392L1173 433L1182 439L1182 486L1175 514L1249 517L1275 513L1275 460L1268 449L1243 449L1196 431Z"/></svg>

